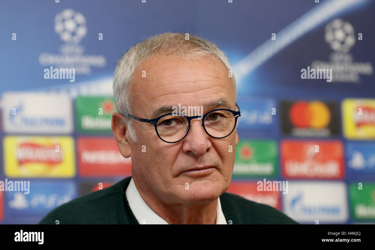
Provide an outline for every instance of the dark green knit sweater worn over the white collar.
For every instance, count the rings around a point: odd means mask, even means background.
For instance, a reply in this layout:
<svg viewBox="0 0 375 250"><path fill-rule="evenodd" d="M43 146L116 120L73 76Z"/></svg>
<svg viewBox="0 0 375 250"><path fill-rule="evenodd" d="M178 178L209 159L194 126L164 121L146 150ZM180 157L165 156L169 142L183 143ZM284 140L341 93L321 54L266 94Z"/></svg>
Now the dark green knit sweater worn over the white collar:
<svg viewBox="0 0 375 250"><path fill-rule="evenodd" d="M131 178L62 204L39 224L139 224L125 194ZM220 203L228 224L298 224L276 208L231 193L223 193Z"/></svg>

